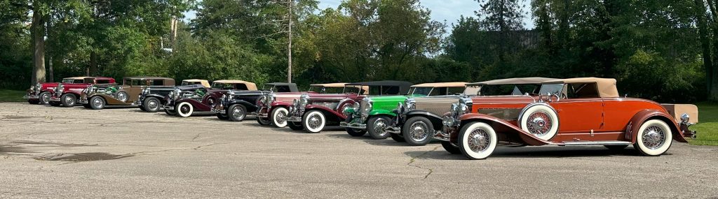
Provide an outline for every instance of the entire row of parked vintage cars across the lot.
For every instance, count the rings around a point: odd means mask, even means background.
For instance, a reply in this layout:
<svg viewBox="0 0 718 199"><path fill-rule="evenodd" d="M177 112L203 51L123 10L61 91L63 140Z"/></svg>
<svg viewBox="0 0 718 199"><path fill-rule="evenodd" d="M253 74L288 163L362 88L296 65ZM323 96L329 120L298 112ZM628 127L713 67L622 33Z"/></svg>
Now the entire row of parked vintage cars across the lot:
<svg viewBox="0 0 718 199"><path fill-rule="evenodd" d="M412 84L401 81L311 84L166 77L70 77L27 90L31 104L101 110L139 107L145 112L190 117L214 112L241 122L248 115L268 127L309 133L345 127L355 137L391 139L407 145L439 140L445 150L484 159L497 146L633 145L661 155L671 142L696 137L695 105L658 104L621 97L615 79L526 77L486 82Z"/></svg>

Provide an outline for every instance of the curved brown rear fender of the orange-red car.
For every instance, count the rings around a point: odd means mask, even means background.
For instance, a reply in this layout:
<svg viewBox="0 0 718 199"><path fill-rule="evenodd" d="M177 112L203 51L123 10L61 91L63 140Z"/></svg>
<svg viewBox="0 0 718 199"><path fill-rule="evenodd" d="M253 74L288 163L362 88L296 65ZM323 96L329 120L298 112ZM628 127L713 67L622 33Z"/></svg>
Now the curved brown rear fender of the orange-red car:
<svg viewBox="0 0 718 199"><path fill-rule="evenodd" d="M628 122L628 125L626 125L626 140L630 140L631 143L635 143L636 140L638 140L638 134L640 134L638 132L638 130L640 130L640 125L643 125L643 122L645 121L653 119L663 120L663 122L666 122L666 124L668 124L668 127L671 127L671 132L673 133L673 140L679 142L688 142L683 136L683 132L679 130L678 124L673 121L673 117L671 115L668 115L666 112L661 112L660 110L642 110L633 115L630 122Z"/></svg>

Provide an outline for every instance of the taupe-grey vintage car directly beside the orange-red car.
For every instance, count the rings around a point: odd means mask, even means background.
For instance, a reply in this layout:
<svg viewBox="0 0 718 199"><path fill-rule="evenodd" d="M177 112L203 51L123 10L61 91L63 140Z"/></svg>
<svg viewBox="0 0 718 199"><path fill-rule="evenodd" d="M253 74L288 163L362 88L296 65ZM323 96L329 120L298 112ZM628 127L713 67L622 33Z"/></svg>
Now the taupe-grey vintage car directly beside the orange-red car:
<svg viewBox="0 0 718 199"><path fill-rule="evenodd" d="M434 131L442 130L442 116L449 112L449 107L460 96L498 96L498 95L538 95L541 82L554 80L544 77L521 77L510 79L495 79L486 82L466 84L461 95L446 95L439 97L408 97L398 108L393 110L390 125L386 132L397 142L406 142L409 145L426 145L432 140Z"/></svg>

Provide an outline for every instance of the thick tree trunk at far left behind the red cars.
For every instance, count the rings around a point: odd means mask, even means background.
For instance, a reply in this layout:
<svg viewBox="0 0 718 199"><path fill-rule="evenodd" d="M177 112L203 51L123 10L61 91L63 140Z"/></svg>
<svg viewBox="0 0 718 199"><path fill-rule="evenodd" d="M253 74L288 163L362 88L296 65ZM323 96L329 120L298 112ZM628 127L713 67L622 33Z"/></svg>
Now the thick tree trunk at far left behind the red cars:
<svg viewBox="0 0 718 199"><path fill-rule="evenodd" d="M45 82L45 16L39 11L39 3L32 2L34 10L32 12L32 84Z"/></svg>

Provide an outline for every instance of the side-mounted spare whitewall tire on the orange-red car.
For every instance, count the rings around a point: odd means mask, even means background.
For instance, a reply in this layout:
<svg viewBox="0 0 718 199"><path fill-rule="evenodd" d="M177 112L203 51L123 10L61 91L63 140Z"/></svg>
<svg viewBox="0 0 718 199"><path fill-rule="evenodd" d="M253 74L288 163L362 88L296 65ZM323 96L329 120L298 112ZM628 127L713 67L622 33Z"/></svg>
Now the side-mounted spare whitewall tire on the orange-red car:
<svg viewBox="0 0 718 199"><path fill-rule="evenodd" d="M551 140L559 132L559 116L548 105L533 105L518 119L521 129L541 140Z"/></svg>

